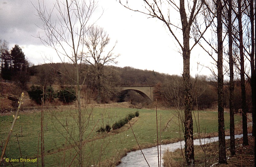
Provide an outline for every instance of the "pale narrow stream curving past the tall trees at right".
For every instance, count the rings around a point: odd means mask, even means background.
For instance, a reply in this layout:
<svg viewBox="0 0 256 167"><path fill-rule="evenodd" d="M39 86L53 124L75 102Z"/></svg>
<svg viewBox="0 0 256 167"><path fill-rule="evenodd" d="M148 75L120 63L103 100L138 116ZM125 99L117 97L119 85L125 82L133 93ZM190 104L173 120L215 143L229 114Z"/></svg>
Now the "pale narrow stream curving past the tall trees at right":
<svg viewBox="0 0 256 167"><path fill-rule="evenodd" d="M248 134L252 135L252 134ZM235 135L235 138L241 138L243 134ZM226 136L225 139L230 139L230 136ZM217 142L219 140L218 137L212 138L203 138L201 139L202 144L207 144L210 142ZM181 141L182 148L184 148L185 141ZM199 139L194 139L194 145L200 145ZM176 149L180 149L180 142L170 143L170 144L163 144L161 145L161 152L162 157L165 151L169 149L170 152L174 152ZM158 157L157 157L157 146L142 149L144 156L146 157L148 164L150 167L158 166ZM159 146L159 154L160 154L160 146ZM161 166L163 164L163 158L161 157ZM117 167L131 167L131 166L138 166L138 167L148 167L147 162L145 161L142 153L140 150L132 151L127 153L127 156L124 156L121 159L121 163L117 165Z"/></svg>

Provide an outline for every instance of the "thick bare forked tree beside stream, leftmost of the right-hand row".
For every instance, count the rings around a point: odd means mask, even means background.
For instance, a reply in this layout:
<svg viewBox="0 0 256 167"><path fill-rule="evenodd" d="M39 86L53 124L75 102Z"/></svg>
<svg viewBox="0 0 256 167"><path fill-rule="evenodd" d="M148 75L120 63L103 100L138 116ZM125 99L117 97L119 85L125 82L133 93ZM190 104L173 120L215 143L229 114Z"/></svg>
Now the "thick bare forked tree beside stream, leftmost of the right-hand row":
<svg viewBox="0 0 256 167"><path fill-rule="evenodd" d="M132 11L138 11L140 13L146 14L150 18L157 18L161 20L164 25L167 27L169 32L174 37L177 42L181 54L183 57L183 84L184 84L184 113L185 113L185 156L187 165L194 165L194 139L193 139L193 120L192 120L192 93L191 93L191 81L190 81L190 53L194 46L203 36L206 29L210 26L197 19L201 12L203 11L203 6L206 1L187 1L180 0L180 4L176 4L176 1L173 0L143 0L137 3L141 3L143 8L136 9L135 7L129 6L128 2L119 0L127 9ZM176 12L176 13L175 13ZM174 17L177 17L178 22ZM202 21L202 20L201 20ZM201 25L202 34L195 34L194 41L190 40L192 37L191 29L193 24ZM211 24L211 23L210 23ZM182 38L179 35L182 34ZM192 47L190 46L192 43Z"/></svg>

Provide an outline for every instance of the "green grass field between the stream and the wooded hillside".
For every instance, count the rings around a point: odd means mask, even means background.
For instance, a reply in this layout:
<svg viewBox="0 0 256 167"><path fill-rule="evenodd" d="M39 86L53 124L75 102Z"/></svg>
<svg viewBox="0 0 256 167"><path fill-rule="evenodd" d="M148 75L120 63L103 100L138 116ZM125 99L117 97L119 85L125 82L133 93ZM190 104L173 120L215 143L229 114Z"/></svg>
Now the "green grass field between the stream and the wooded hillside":
<svg viewBox="0 0 256 167"><path fill-rule="evenodd" d="M90 107L88 108L88 112ZM156 145L156 110L149 109L131 109L131 108L100 108L94 107L90 116L88 127L84 132L84 141L91 133L93 127L99 120L92 134L88 137L83 147L84 166L114 166L120 161L120 158L127 151L138 149L135 138L132 134L130 126L127 124L121 129L110 133L97 133L100 128L123 119L129 113L139 111L140 116L131 120L133 131L141 147L150 147ZM161 140L163 142L177 141L180 138L179 122L176 111L174 110L158 110L158 126L160 127L161 114ZM66 166L69 165L74 158L76 151L73 149L74 143L68 143L70 136L66 133L65 128L72 130L72 137L78 136L77 124L74 120L77 111L74 109L63 109L62 111L45 110L44 114L44 145L45 145L45 166ZM218 132L218 113L199 111L200 130L202 133L208 134ZM195 112L197 118L197 112ZM88 117L85 117L85 119ZM20 160L20 150L17 137L20 143L22 158L37 158L38 134L41 128L41 113L29 112L21 113L20 119L17 120L11 139L6 150L7 158ZM0 140L4 146L9 129L12 123L12 115L0 116ZM57 121L59 120L59 122ZM197 124L198 124L198 120ZM235 115L235 123L240 123L240 116ZM46 131L47 123L47 131ZM64 127L61 124L65 125ZM22 128L22 134L20 129ZM225 128L229 128L229 114L225 113ZM160 131L160 129L159 129ZM194 134L196 137L197 128L194 120ZM183 139L181 134L181 139ZM41 150L39 141L39 165L41 165ZM2 164L3 165L3 164ZM5 163L5 165L9 165ZM12 162L13 166L22 166L22 162ZM37 166L37 162L24 162L25 166ZM72 166L77 165L77 160Z"/></svg>

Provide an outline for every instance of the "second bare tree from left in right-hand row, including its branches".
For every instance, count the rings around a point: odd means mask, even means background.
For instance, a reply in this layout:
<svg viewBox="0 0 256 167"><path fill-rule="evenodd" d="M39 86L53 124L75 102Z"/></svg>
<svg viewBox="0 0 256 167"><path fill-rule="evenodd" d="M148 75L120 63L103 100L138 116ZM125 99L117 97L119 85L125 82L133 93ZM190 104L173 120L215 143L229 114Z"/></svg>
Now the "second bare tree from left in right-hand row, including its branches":
<svg viewBox="0 0 256 167"><path fill-rule="evenodd" d="M226 2L226 1L225 1ZM209 54L214 60L214 65L217 66L218 74L216 75L214 70L208 67L212 74L217 79L217 94L218 94L218 135L219 135L219 163L227 163L226 158L226 142L225 142L225 126L224 126L224 75L223 75L223 2L221 0L214 1L215 6L209 6L207 11L204 13L205 21L217 18L217 22L212 24L212 37L208 36L209 39L203 38L206 45L200 43L200 46ZM215 36L216 35L216 36ZM217 38L217 41L215 39ZM206 46L209 46L208 49ZM214 58L215 52L217 59Z"/></svg>

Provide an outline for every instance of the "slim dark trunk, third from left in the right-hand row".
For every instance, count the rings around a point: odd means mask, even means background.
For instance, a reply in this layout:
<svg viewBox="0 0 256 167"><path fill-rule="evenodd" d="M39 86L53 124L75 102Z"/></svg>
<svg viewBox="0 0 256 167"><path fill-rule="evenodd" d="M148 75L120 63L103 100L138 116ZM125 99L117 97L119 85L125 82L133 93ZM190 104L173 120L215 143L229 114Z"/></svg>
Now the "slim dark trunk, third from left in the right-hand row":
<svg viewBox="0 0 256 167"><path fill-rule="evenodd" d="M235 119L234 119L234 68L233 68L233 38L232 38L232 0L228 0L228 54L229 54L229 116L230 116L230 154L236 155Z"/></svg>

